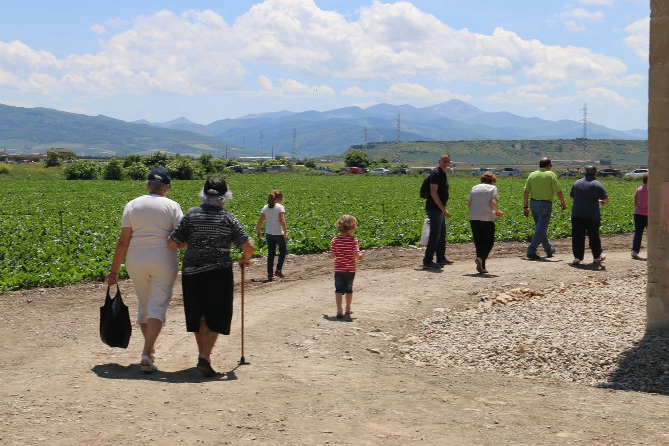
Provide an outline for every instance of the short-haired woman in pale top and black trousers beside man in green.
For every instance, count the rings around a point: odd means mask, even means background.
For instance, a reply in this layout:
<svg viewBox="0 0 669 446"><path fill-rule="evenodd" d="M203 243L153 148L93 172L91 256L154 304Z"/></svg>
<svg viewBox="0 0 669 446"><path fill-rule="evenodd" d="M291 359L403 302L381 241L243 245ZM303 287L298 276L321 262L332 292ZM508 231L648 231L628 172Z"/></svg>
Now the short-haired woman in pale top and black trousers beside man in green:
<svg viewBox="0 0 669 446"><path fill-rule="evenodd" d="M467 206L476 246L476 271L487 273L486 259L495 243L495 219L504 215L497 207L497 178L491 172L481 176L481 184L472 187Z"/></svg>

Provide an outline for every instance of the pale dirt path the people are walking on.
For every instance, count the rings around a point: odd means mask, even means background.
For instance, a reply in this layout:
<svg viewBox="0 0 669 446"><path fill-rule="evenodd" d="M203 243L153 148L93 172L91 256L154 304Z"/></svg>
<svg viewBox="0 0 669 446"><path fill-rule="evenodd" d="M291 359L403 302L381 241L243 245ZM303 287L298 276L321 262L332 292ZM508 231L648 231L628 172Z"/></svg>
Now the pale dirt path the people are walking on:
<svg viewBox="0 0 669 446"><path fill-rule="evenodd" d="M367 252L356 277L355 314L334 316L332 263L290 257L288 280L248 269L246 359L239 302L233 336L221 337L203 378L187 334L181 284L157 347L161 371L141 374L141 336L127 350L98 338L104 287L84 284L0 296L0 443L44 444L660 444L669 443L669 399L560 380L518 378L403 360L402 338L434 308L462 310L487 292L527 284L611 280L643 273L631 236L603 240L607 261L573 267L569 240L555 257L522 259L524 243L498 243L490 274L477 275L472 245L449 247L454 265L418 268L421 249ZM239 280L239 277L237 277ZM122 284L131 313L129 282ZM615 296L611 296L615 298ZM378 352L369 350L377 349Z"/></svg>

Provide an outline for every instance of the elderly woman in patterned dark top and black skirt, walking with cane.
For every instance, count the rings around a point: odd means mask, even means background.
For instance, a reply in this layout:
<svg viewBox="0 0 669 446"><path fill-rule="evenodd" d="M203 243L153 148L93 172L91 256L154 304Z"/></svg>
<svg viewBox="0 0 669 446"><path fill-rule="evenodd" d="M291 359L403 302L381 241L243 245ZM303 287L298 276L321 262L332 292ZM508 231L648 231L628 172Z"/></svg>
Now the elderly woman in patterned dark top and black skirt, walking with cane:
<svg viewBox="0 0 669 446"><path fill-rule="evenodd" d="M230 334L234 281L230 247L242 248L240 266L251 264L254 243L237 217L225 210L232 191L225 180L210 178L200 192L201 205L188 210L168 243L187 245L181 283L186 330L195 333L197 369L215 376L211 350L220 334Z"/></svg>

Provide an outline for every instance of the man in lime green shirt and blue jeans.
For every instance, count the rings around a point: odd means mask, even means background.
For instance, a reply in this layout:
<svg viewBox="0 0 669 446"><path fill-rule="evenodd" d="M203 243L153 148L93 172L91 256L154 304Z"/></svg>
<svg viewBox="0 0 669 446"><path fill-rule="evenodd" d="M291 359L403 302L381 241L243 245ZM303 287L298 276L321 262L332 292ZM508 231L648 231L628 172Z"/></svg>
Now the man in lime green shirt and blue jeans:
<svg viewBox="0 0 669 446"><path fill-rule="evenodd" d="M537 254L539 243L546 251L547 257L552 257L555 252L547 234L548 224L551 221L551 211L553 210L553 195L557 195L562 202L562 210L567 209L562 188L555 173L551 172L551 167L553 167L551 158L544 156L539 161L539 170L531 173L525 182L522 213L527 217L532 211L532 218L535 221L535 235L532 236L530 245L527 247L527 257L529 259L538 260L541 258Z"/></svg>

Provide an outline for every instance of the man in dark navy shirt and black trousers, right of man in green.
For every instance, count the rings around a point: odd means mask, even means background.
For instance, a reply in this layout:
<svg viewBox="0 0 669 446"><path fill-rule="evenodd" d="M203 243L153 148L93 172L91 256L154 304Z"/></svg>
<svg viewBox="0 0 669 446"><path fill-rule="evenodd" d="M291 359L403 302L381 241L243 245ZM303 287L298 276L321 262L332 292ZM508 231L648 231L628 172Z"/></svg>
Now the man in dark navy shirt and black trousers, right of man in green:
<svg viewBox="0 0 669 446"><path fill-rule="evenodd" d="M577 180L571 187L569 197L573 199L571 208L571 249L574 253L573 264L577 265L583 261L585 254L585 233L587 232L588 243L592 251L593 262L604 261L606 255L601 252L601 241L599 240L599 213L600 203L608 203L607 195L603 185L597 181L597 169L595 166L585 168L585 176Z"/></svg>

